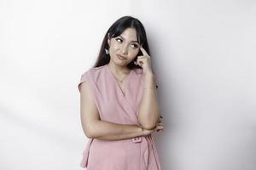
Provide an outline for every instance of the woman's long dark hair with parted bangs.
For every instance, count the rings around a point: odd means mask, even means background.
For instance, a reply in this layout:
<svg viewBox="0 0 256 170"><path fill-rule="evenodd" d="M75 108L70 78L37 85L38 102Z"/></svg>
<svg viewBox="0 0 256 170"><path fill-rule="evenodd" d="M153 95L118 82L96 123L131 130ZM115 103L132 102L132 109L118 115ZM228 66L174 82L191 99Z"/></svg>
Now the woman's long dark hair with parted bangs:
<svg viewBox="0 0 256 170"><path fill-rule="evenodd" d="M131 16L123 16L121 18L119 18L119 20L116 20L112 26L109 27L108 31L105 34L105 37L102 41L102 47L100 49L98 58L96 59L96 63L94 65L94 67L99 67L102 65L107 65L110 61L110 56L109 54L105 53L105 48L109 49L108 46L108 33L109 33L109 37L113 38L113 37L118 37L123 31L125 31L126 28L134 28L137 32L137 40L139 42L140 45L143 44L143 48L147 51L148 55L150 55L150 50L148 47L148 40L147 40L147 35L146 35L146 31L144 29L143 24L141 23L141 21L137 20L134 17ZM139 51L139 53L137 54L137 56L139 55L143 55L143 53L141 51ZM134 60L137 59L137 56ZM150 55L151 57L151 55ZM151 57L152 59L152 57ZM133 60L133 61L134 61ZM139 65L135 65L133 63L133 61L131 61L127 67L129 69L133 69L133 68L142 68ZM152 69L153 71L153 69ZM154 71L153 71L154 73Z"/></svg>

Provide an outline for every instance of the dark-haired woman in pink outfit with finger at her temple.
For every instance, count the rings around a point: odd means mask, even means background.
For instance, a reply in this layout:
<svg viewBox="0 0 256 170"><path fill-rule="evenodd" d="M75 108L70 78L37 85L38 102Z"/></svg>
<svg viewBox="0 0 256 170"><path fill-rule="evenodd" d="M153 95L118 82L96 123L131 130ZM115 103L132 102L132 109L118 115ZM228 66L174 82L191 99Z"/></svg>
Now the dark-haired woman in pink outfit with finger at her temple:
<svg viewBox="0 0 256 170"><path fill-rule="evenodd" d="M96 65L79 82L81 122L89 138L81 167L160 170L151 133L164 125L149 53L136 18L124 16L108 29Z"/></svg>

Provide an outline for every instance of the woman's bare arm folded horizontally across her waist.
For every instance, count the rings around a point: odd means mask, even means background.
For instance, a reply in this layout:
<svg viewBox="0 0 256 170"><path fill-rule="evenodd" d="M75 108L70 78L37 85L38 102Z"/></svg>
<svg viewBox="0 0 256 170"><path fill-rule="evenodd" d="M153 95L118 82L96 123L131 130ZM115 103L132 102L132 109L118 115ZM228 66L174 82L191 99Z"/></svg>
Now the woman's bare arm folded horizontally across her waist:
<svg viewBox="0 0 256 170"><path fill-rule="evenodd" d="M81 84L80 114L84 134L88 138L118 140L143 136L143 128L137 125L124 125L100 120L95 101L88 83Z"/></svg>

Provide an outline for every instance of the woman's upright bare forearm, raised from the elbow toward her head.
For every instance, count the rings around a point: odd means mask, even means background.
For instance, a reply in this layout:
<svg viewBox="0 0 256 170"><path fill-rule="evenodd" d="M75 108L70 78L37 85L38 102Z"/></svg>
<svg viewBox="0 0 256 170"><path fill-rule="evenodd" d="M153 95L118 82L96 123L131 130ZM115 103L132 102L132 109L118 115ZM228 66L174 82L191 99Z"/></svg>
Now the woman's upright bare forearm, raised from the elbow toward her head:
<svg viewBox="0 0 256 170"><path fill-rule="evenodd" d="M139 108L138 121L144 129L153 129L160 119L160 108L154 83L154 74L144 75L143 100Z"/></svg>

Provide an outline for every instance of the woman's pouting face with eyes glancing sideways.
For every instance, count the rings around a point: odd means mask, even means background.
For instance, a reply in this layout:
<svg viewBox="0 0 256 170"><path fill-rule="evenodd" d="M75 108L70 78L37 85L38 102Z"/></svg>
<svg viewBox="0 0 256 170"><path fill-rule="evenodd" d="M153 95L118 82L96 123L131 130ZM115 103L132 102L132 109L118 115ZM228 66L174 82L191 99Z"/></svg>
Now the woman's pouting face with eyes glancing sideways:
<svg viewBox="0 0 256 170"><path fill-rule="evenodd" d="M140 48L134 28L125 29L118 37L108 38L108 45L111 61L120 66L126 66L133 61Z"/></svg>

